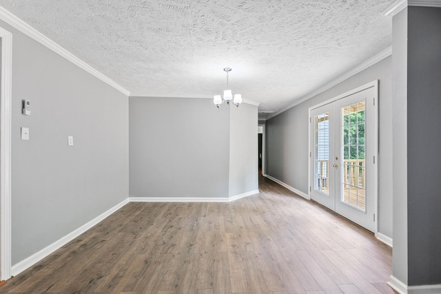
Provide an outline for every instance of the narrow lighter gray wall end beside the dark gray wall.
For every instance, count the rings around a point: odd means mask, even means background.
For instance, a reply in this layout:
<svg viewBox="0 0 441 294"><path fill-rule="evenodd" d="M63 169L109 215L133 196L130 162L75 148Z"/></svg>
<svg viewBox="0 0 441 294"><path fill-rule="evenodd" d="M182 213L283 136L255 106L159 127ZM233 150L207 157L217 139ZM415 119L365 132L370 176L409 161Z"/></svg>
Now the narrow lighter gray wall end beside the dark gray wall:
<svg viewBox="0 0 441 294"><path fill-rule="evenodd" d="M407 284L407 8L392 23L393 276Z"/></svg>

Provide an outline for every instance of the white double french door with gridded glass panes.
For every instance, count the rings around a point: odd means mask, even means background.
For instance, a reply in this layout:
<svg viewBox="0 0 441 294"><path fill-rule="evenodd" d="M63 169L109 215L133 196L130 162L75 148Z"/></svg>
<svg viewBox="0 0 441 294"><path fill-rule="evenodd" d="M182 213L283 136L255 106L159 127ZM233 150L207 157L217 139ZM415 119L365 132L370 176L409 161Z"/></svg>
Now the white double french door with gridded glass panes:
<svg viewBox="0 0 441 294"><path fill-rule="evenodd" d="M310 109L310 197L376 232L378 83Z"/></svg>

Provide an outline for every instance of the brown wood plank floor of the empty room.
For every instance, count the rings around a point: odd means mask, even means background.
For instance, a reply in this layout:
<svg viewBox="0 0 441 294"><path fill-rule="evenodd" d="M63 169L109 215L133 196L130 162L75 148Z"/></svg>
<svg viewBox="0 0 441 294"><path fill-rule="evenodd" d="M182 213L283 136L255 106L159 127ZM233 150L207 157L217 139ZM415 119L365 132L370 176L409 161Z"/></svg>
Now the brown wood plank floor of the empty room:
<svg viewBox="0 0 441 294"><path fill-rule="evenodd" d="M391 249L260 177L229 203L130 203L0 293L395 293Z"/></svg>

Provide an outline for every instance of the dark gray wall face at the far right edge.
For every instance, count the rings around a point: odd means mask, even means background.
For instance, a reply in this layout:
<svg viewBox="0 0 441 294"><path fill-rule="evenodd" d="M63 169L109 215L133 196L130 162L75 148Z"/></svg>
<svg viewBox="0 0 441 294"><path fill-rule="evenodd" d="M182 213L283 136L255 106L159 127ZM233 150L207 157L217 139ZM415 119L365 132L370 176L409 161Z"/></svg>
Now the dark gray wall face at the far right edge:
<svg viewBox="0 0 441 294"><path fill-rule="evenodd" d="M409 7L408 23L408 284L441 284L441 8Z"/></svg>

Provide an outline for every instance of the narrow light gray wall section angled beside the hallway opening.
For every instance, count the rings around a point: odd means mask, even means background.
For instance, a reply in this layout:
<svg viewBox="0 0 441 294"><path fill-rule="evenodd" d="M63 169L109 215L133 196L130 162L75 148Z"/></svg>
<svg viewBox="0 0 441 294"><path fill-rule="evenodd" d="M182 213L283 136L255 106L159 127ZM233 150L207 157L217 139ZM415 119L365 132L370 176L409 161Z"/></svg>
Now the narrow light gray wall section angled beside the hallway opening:
<svg viewBox="0 0 441 294"><path fill-rule="evenodd" d="M230 107L229 196L258 189L257 106Z"/></svg>

